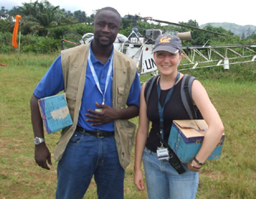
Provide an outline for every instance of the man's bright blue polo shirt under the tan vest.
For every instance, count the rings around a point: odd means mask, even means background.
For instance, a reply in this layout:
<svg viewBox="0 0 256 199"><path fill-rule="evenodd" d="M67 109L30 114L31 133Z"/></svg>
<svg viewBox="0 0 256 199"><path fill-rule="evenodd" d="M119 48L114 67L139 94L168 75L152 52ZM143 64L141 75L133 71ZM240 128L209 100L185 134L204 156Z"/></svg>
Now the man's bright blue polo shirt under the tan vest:
<svg viewBox="0 0 256 199"><path fill-rule="evenodd" d="M111 56L110 58L108 58L105 64L102 64L102 62L95 58L94 54L92 53L91 46L90 52L92 65L97 74L97 78L102 89L102 93L104 93L107 71L109 64L111 62ZM107 92L105 95L105 104L109 106L112 106L112 73L113 72L111 72L111 78L107 86ZM135 80L130 88L130 94L127 100L128 106L131 104L140 106L140 88L140 78L137 73L135 76ZM55 62L53 62L53 64L50 66L48 72L45 73L45 76L43 76L39 84L36 86L36 89L34 90L34 95L40 99L46 96L56 95L62 90L64 90L64 77L61 65L61 55L59 55L59 57L56 58ZM86 72L86 81L83 90L82 104L78 118L78 126L83 127L89 131L114 131L114 122L106 123L101 126L92 127L90 125L91 123L85 121L88 118L85 116L85 113L88 113L88 109L97 109L97 106L95 104L96 102L102 104L102 94L97 89L96 82L94 81L91 69L88 65Z"/></svg>

